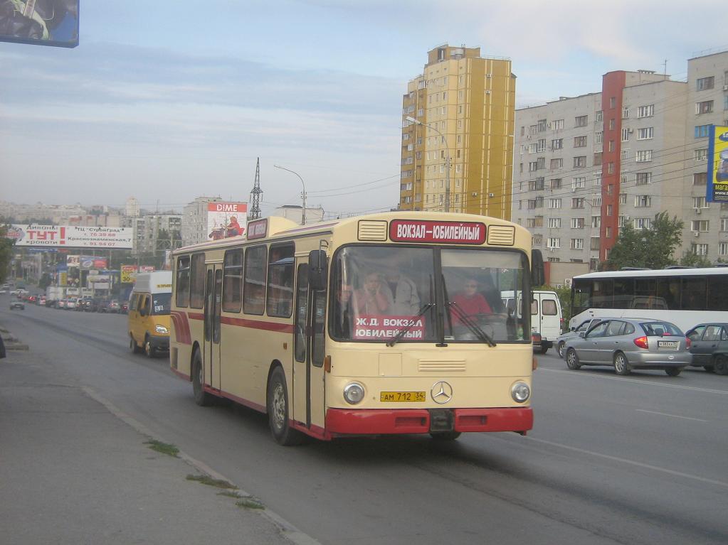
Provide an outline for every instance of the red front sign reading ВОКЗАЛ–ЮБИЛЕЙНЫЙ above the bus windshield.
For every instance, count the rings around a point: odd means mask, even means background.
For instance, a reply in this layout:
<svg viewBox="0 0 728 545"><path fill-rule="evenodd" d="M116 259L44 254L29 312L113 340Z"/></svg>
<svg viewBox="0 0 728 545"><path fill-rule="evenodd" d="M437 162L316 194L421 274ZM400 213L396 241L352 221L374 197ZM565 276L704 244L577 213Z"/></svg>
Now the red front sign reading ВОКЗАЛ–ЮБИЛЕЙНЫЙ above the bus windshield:
<svg viewBox="0 0 728 545"><path fill-rule="evenodd" d="M393 219L389 238L395 242L482 244L486 225L480 222L434 222L427 219Z"/></svg>

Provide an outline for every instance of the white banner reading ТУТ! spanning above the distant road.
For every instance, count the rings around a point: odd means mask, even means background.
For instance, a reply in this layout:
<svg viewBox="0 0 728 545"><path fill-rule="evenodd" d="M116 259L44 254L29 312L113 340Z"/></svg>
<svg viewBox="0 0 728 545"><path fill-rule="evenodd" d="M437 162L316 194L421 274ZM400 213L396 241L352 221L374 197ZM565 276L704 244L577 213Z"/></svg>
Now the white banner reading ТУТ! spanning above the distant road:
<svg viewBox="0 0 728 545"><path fill-rule="evenodd" d="M134 246L133 227L13 224L8 228L6 236L15 241L15 246L86 248L96 250L130 250Z"/></svg>

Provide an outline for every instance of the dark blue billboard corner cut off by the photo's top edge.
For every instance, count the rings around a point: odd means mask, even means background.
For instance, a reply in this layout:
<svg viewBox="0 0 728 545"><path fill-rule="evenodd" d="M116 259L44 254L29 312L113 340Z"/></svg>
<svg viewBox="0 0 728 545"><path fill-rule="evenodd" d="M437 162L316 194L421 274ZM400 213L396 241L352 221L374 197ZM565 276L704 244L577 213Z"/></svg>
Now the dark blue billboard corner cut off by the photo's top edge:
<svg viewBox="0 0 728 545"><path fill-rule="evenodd" d="M76 47L79 0L0 0L0 41Z"/></svg>

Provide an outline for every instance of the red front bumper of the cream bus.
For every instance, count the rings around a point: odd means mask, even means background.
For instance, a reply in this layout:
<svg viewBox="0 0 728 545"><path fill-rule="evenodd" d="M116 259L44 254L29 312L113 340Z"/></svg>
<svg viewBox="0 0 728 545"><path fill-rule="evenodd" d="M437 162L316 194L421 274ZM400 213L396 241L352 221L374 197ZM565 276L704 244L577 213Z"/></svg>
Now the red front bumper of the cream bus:
<svg viewBox="0 0 728 545"><path fill-rule="evenodd" d="M534 427L530 407L453 409L456 432L527 432ZM379 435L430 432L427 409L328 409L326 432Z"/></svg>

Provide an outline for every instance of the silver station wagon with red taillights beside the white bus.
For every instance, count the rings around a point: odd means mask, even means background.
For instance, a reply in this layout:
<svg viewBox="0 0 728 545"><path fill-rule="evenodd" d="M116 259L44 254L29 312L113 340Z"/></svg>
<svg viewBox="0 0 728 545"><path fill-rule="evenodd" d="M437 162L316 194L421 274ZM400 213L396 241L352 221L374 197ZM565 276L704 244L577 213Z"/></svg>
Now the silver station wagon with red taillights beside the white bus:
<svg viewBox="0 0 728 545"><path fill-rule="evenodd" d="M633 369L662 369L678 376L692 363L690 339L678 326L649 318L603 318L566 340L566 366L612 366L618 375Z"/></svg>

